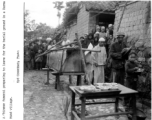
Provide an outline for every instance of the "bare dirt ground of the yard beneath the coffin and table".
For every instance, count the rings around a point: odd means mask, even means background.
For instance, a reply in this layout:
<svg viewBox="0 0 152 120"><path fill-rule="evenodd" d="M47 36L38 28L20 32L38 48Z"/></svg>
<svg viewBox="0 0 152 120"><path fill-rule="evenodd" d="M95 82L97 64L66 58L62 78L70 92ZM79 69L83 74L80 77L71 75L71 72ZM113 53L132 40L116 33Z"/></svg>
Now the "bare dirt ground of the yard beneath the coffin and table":
<svg viewBox="0 0 152 120"><path fill-rule="evenodd" d="M24 120L70 120L70 107L65 110L66 99L70 101L69 81L67 76L62 76L62 90L54 89L55 77L50 73L50 85L46 82L45 71L24 72ZM75 85L75 77L73 85ZM107 101L101 99L100 101ZM79 102L77 100L77 102ZM120 107L122 105L120 104ZM79 108L77 108L79 110ZM114 112L114 104L86 106L88 115ZM68 111L68 112L66 112ZM96 120L128 120L126 116L114 116ZM95 119L94 119L95 120Z"/></svg>

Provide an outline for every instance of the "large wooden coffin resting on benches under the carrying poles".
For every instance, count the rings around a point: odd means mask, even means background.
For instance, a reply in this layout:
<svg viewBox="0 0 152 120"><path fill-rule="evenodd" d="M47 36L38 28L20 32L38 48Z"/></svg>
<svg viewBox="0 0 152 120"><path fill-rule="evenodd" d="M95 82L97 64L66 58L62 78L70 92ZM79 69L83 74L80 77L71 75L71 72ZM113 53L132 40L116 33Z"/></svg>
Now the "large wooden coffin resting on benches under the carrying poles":
<svg viewBox="0 0 152 120"><path fill-rule="evenodd" d="M90 59L91 54L85 56L85 61ZM89 58L89 59L87 59ZM84 66L80 55L80 49L54 51L48 54L47 65L60 72L84 73Z"/></svg>

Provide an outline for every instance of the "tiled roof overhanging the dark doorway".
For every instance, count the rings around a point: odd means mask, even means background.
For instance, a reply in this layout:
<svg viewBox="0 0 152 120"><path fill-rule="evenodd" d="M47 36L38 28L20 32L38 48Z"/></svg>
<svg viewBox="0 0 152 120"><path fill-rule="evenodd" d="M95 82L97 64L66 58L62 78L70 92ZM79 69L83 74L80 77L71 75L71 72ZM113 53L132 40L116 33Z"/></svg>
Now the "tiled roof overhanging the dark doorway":
<svg viewBox="0 0 152 120"><path fill-rule="evenodd" d="M64 12L64 26L67 26L71 20L77 18L80 6L84 5L87 11L105 11L115 12L116 7L125 1L80 1L68 8Z"/></svg>

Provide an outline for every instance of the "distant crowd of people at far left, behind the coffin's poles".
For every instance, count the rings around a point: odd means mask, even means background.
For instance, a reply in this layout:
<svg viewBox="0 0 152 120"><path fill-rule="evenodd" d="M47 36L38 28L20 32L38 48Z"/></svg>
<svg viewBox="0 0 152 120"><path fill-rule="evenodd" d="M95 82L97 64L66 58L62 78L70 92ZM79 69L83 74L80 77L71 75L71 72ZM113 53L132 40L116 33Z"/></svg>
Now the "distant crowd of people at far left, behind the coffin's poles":
<svg viewBox="0 0 152 120"><path fill-rule="evenodd" d="M34 40L24 43L24 69L25 70L41 70L46 66L46 55L37 57L47 50L48 42Z"/></svg>

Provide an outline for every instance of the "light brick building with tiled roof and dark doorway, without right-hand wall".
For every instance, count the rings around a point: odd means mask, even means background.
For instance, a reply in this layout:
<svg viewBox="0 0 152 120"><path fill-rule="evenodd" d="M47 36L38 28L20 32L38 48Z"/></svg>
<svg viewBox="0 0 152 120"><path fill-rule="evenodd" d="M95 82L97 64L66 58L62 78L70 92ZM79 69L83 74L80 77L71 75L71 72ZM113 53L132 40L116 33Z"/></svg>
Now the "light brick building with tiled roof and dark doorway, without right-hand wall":
<svg viewBox="0 0 152 120"><path fill-rule="evenodd" d="M106 27L114 24L116 4L112 1L87 1L73 5L65 15L68 39L74 40L75 33L79 37L93 33L97 24Z"/></svg>

